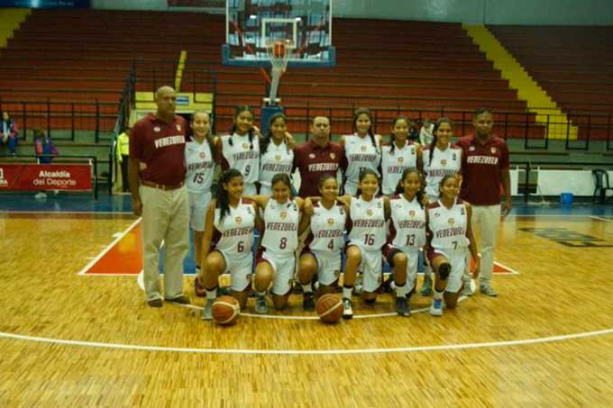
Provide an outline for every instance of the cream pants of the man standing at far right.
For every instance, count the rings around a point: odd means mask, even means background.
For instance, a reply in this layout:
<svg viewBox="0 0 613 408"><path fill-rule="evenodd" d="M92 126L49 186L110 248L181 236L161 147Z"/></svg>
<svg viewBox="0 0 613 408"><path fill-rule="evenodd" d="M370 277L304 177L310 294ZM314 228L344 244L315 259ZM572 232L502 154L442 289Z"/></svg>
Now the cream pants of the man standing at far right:
<svg viewBox="0 0 613 408"><path fill-rule="evenodd" d="M472 205L472 233L479 235L480 285L489 285L494 270L494 249L500 222L500 205Z"/></svg>

